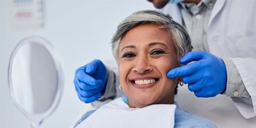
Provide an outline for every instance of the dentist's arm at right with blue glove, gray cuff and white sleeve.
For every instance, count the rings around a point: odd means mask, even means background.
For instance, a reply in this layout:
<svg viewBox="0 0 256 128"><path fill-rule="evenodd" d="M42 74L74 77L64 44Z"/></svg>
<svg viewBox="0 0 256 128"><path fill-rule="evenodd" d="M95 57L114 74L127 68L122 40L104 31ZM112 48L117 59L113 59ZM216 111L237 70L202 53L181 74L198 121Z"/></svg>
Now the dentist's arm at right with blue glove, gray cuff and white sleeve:
<svg viewBox="0 0 256 128"><path fill-rule="evenodd" d="M256 58L231 58L231 60L235 67L230 61L226 60L226 63L229 63L226 65L221 58L207 52L189 52L180 60L180 63L186 65L170 70L167 76L170 78L181 76L182 81L188 83L188 89L194 92L196 97L215 97L226 91L226 95L232 98L236 108L245 118L255 117ZM194 62L190 63L191 61ZM234 97L236 95L237 97Z"/></svg>

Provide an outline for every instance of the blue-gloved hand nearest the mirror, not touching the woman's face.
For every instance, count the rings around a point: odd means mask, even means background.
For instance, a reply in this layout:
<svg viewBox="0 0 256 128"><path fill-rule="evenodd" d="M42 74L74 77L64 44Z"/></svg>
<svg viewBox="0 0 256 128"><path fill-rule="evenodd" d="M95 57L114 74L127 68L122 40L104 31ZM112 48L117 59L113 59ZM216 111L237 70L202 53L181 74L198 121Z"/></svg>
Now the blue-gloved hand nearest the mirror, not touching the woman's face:
<svg viewBox="0 0 256 128"><path fill-rule="evenodd" d="M79 99L85 103L99 99L106 89L108 69L100 60L93 60L83 67L77 68L74 84Z"/></svg>

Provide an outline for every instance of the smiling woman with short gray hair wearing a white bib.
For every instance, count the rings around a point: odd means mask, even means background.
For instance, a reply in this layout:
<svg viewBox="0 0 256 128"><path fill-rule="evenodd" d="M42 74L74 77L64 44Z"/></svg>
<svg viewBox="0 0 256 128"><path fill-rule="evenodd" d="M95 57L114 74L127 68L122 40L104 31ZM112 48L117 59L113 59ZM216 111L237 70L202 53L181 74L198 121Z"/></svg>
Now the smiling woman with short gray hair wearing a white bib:
<svg viewBox="0 0 256 128"><path fill-rule="evenodd" d="M176 107L179 79L168 79L166 73L179 67L192 47L188 33L171 17L150 10L133 13L120 23L111 43L127 97L86 113L77 127L216 127Z"/></svg>

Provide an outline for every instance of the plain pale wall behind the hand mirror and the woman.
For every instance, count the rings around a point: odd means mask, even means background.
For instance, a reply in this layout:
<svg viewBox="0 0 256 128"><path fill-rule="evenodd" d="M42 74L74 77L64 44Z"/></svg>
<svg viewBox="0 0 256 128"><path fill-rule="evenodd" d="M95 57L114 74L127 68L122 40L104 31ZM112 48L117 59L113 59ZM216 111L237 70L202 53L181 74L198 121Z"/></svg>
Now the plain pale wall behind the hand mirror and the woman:
<svg viewBox="0 0 256 128"><path fill-rule="evenodd" d="M72 83L76 68L99 58L112 57L110 40L118 23L132 12L154 9L146 0L46 0L45 28L13 29L10 2L0 0L0 127L30 127L29 120L15 107L8 90L8 61L15 45L24 37L47 38L61 57L65 84L61 102L42 127L72 127L85 104Z"/></svg>

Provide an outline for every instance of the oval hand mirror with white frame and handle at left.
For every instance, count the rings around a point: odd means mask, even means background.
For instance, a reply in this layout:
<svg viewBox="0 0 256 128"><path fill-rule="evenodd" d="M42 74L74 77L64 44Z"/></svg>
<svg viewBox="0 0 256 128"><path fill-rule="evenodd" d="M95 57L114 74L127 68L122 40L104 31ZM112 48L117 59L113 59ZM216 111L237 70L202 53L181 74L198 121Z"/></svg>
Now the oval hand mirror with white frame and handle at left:
<svg viewBox="0 0 256 128"><path fill-rule="evenodd" d="M44 38L24 38L12 52L8 69L10 93L17 108L40 127L56 109L62 92L56 52Z"/></svg>

